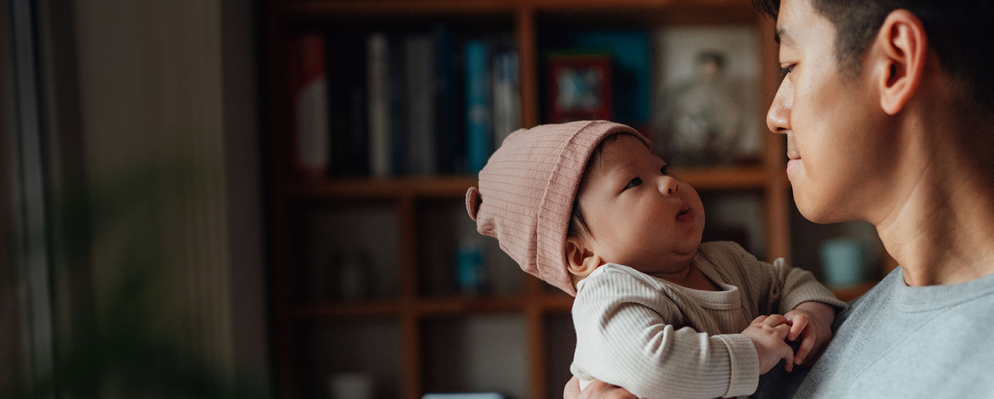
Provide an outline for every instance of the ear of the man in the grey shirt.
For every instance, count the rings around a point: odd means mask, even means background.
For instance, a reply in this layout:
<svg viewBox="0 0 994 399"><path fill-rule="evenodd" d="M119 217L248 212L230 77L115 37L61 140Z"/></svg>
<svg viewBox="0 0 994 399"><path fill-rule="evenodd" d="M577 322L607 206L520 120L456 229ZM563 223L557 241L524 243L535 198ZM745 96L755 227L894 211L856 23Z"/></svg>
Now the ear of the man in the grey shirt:
<svg viewBox="0 0 994 399"><path fill-rule="evenodd" d="M880 105L889 115L897 114L921 83L928 54L924 25L908 10L895 10L887 16L873 45L875 84L880 88Z"/></svg>

